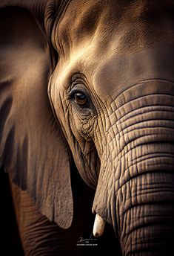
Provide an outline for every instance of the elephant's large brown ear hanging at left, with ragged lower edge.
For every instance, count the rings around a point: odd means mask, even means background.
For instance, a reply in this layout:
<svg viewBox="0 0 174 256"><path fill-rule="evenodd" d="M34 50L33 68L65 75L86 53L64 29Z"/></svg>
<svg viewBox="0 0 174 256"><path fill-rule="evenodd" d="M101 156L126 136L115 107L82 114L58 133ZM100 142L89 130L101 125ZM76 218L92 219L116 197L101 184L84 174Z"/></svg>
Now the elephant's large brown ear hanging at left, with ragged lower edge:
<svg viewBox="0 0 174 256"><path fill-rule="evenodd" d="M0 12L0 165L42 214L68 228L70 153L47 94L49 46L27 10Z"/></svg>

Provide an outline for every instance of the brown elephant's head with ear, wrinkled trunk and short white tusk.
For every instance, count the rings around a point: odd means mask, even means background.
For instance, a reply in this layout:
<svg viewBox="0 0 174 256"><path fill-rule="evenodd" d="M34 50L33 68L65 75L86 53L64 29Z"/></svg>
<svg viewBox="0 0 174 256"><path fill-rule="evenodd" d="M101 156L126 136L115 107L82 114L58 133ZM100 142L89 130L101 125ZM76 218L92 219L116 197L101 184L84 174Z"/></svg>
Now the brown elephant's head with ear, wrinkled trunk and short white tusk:
<svg viewBox="0 0 174 256"><path fill-rule="evenodd" d="M174 1L0 8L1 167L60 240L83 180L94 237L110 227L121 255L173 255Z"/></svg>

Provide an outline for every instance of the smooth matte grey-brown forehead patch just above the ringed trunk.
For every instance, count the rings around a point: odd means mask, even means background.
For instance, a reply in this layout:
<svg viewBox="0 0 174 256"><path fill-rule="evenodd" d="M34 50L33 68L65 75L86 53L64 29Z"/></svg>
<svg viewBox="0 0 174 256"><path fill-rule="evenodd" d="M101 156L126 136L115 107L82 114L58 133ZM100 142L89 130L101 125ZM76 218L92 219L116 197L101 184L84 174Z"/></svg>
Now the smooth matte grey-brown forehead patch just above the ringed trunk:
<svg viewBox="0 0 174 256"><path fill-rule="evenodd" d="M146 80L174 82L173 67L174 43L146 48L133 54L113 54L96 66L93 86L99 97L112 100L131 86Z"/></svg>

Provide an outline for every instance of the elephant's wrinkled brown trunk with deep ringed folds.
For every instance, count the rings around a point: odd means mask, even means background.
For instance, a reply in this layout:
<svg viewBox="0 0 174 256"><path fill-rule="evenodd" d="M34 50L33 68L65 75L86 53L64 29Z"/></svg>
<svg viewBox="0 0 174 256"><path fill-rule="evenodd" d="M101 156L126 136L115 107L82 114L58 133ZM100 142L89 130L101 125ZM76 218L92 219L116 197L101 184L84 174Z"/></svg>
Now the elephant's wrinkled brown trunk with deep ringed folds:
<svg viewBox="0 0 174 256"><path fill-rule="evenodd" d="M127 89L107 112L93 212L123 255L174 255L174 84Z"/></svg>

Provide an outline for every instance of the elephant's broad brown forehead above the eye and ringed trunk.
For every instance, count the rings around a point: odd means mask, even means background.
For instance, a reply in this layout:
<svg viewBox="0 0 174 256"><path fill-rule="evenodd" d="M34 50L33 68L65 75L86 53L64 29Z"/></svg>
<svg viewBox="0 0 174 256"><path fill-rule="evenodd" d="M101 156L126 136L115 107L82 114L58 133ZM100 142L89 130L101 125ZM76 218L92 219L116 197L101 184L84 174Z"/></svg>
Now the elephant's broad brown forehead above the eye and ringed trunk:
<svg viewBox="0 0 174 256"><path fill-rule="evenodd" d="M60 83L80 71L97 95L108 98L141 80L173 80L173 5L70 1L57 32Z"/></svg>

